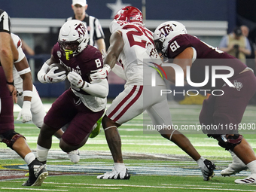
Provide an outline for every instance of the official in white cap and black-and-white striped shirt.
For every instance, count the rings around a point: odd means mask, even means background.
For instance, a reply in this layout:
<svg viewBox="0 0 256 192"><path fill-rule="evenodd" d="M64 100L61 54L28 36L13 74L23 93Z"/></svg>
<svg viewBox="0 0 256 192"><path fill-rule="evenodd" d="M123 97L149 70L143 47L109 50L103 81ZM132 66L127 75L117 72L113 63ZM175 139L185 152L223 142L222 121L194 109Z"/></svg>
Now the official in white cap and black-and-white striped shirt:
<svg viewBox="0 0 256 192"><path fill-rule="evenodd" d="M72 0L72 9L74 11L74 16L69 17L67 20L81 20L84 22L88 29L88 34L90 36L90 45L97 47L100 52L105 51L105 35L102 30L102 26L96 17L88 15L87 11L88 5L86 0Z"/></svg>

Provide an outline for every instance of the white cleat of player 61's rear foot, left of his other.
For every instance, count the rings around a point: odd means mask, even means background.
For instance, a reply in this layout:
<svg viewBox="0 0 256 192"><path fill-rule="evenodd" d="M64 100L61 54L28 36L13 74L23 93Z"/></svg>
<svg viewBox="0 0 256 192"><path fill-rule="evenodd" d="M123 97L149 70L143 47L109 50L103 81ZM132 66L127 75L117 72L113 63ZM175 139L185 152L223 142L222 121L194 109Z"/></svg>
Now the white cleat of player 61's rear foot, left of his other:
<svg viewBox="0 0 256 192"><path fill-rule="evenodd" d="M236 154L233 154L233 152L231 152L231 154L233 157L233 162L229 164L226 169L223 169L221 171L221 175L224 177L236 175L236 173L248 169L247 166L245 166L245 163L243 163L242 160L240 160L239 157L236 156Z"/></svg>

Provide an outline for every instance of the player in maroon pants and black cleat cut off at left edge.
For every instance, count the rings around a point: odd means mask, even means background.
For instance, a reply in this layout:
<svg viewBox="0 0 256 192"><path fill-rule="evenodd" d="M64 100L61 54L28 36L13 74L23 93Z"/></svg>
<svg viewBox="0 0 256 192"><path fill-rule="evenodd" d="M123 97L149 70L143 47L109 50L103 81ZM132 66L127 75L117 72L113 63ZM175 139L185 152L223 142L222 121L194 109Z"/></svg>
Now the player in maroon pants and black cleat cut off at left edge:
<svg viewBox="0 0 256 192"><path fill-rule="evenodd" d="M26 139L14 130L14 101L17 90L14 86L13 63L19 59L17 47L11 38L11 22L8 14L0 9L0 142L17 152L29 166L29 179L23 186L40 186L48 172L29 148Z"/></svg>

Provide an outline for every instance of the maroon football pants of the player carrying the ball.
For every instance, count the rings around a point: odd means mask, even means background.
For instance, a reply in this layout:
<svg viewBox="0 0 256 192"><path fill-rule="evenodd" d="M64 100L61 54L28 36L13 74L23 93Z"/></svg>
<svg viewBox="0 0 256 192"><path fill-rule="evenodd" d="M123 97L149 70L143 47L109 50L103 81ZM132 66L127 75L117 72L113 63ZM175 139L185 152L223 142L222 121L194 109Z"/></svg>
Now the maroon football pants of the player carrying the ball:
<svg viewBox="0 0 256 192"><path fill-rule="evenodd" d="M93 125L102 117L104 110L93 112L87 108L72 90L66 90L53 102L44 117L44 123L54 130L59 130L69 123L62 139L69 145L79 145L93 129Z"/></svg>

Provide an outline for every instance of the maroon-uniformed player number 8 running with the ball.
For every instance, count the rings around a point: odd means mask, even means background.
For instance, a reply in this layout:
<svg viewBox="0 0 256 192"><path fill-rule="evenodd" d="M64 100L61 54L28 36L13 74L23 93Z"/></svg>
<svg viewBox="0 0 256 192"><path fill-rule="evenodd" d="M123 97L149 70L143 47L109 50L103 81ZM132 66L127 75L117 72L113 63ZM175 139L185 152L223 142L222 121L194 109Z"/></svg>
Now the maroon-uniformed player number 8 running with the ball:
<svg viewBox="0 0 256 192"><path fill-rule="evenodd" d="M54 45L52 55L38 72L41 83L57 83L69 79L71 87L53 102L44 117L44 124L38 136L37 154L46 163L52 136L62 126L69 124L59 142L62 151L81 148L93 126L105 111L108 95L108 81L91 81L90 74L102 69L102 53L88 45L87 27L80 20L69 20L59 31L59 40ZM60 63L66 71L54 73L58 67L47 72L48 66Z"/></svg>

